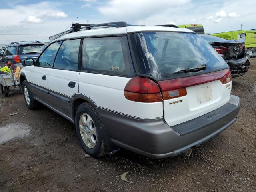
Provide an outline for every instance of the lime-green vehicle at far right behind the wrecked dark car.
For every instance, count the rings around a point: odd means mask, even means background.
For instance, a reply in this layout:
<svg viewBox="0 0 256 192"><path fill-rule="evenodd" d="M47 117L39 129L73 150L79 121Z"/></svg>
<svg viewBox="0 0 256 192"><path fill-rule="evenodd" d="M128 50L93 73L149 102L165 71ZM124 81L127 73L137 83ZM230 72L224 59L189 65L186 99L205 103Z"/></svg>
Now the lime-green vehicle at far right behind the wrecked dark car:
<svg viewBox="0 0 256 192"><path fill-rule="evenodd" d="M228 40L244 40L246 53L249 57L256 56L256 30L228 31L211 35Z"/></svg>

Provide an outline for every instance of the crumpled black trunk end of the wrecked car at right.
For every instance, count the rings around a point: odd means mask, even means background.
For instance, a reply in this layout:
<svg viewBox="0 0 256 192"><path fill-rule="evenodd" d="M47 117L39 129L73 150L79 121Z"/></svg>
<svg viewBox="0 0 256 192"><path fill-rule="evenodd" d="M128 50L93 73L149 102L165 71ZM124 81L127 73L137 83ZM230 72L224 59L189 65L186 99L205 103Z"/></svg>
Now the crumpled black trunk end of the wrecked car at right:
<svg viewBox="0 0 256 192"><path fill-rule="evenodd" d="M238 60L245 56L245 47L243 40L226 40L219 42L211 42L212 45L220 54L223 54L226 60Z"/></svg>

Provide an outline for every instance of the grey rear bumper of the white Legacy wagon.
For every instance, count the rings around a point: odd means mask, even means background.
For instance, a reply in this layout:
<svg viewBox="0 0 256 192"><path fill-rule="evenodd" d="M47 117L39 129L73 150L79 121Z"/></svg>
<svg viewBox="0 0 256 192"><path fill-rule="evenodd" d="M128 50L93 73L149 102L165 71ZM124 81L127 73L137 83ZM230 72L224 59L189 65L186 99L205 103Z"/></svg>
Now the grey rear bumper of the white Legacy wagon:
<svg viewBox="0 0 256 192"><path fill-rule="evenodd" d="M163 118L142 120L96 108L112 143L152 158L174 157L199 146L236 121L240 98L188 122L168 126Z"/></svg>

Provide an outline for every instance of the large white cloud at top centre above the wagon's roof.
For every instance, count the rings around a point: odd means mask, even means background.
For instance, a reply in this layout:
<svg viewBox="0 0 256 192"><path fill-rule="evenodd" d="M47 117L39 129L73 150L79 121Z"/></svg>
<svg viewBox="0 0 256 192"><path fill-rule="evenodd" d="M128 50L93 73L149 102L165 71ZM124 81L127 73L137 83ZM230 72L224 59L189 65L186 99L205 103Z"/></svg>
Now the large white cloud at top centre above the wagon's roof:
<svg viewBox="0 0 256 192"><path fill-rule="evenodd" d="M176 8L182 9L183 6L186 6L190 1L191 0L160 0L156 2L156 0L109 0L106 5L98 7L98 10L105 18L111 20L113 13L115 13L116 20L126 20L133 24L163 24L172 19L170 13ZM169 12L169 14L167 12ZM165 15L164 20L162 15ZM166 16L169 16L169 18Z"/></svg>

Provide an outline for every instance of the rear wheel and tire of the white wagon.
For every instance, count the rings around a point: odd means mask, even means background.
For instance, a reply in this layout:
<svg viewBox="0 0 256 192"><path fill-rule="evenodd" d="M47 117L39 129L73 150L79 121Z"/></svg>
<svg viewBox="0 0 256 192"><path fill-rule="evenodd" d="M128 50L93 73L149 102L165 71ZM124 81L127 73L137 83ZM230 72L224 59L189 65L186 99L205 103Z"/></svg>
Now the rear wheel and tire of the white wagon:
<svg viewBox="0 0 256 192"><path fill-rule="evenodd" d="M102 122L90 103L85 102L78 106L75 124L76 134L84 151L92 157L104 156L106 145Z"/></svg>

